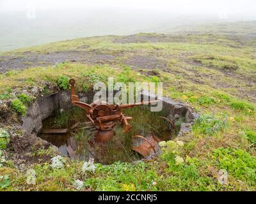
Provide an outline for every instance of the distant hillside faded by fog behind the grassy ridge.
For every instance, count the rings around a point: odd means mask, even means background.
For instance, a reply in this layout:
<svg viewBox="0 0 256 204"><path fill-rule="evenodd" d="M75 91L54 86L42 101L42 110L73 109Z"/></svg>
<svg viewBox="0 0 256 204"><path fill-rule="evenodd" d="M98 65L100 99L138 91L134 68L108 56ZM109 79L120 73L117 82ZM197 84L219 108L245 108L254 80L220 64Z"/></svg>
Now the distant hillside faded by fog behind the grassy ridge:
<svg viewBox="0 0 256 204"><path fill-rule="evenodd" d="M231 19L228 19L231 20ZM116 10L0 13L0 51L87 36L136 33L256 33L255 22L232 22L216 16L179 17L166 13Z"/></svg>

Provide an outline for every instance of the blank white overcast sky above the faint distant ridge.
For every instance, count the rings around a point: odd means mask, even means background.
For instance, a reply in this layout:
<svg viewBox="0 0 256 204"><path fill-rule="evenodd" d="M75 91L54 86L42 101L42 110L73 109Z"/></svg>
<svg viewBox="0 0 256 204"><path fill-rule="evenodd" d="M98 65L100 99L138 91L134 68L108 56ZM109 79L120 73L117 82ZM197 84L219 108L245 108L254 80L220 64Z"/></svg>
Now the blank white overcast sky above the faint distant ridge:
<svg viewBox="0 0 256 204"><path fill-rule="evenodd" d="M0 0L0 10L27 10L35 6L36 10L64 8L129 8L139 10L164 10L173 13L256 13L255 0Z"/></svg>

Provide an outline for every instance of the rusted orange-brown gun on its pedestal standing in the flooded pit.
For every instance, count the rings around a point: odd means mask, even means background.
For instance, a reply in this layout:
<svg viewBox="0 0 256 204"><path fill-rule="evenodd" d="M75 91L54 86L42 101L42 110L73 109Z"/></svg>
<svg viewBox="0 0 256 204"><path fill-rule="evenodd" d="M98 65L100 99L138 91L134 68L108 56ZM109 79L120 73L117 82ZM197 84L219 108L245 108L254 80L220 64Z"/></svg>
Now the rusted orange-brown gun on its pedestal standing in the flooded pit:
<svg viewBox="0 0 256 204"><path fill-rule="evenodd" d="M124 113L121 112L122 108L132 108L140 105L151 105L152 103L159 102L159 100L154 100L147 101L145 103L141 102L134 104L109 105L105 101L97 99L89 105L79 101L74 86L75 83L76 81L74 79L69 80L69 84L71 85L72 104L83 108L86 112L86 117L97 129L97 133L95 134L95 142L107 142L113 138L113 128L115 126L115 121L119 121L124 124L124 133L127 133L131 130L131 125L128 121L132 120L132 117L125 116Z"/></svg>

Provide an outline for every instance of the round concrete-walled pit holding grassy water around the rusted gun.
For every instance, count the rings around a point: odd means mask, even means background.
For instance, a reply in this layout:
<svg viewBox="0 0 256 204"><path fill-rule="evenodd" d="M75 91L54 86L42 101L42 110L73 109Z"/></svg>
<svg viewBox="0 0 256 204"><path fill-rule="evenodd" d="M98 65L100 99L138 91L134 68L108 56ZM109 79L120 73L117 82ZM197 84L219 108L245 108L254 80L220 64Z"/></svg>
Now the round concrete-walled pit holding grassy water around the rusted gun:
<svg viewBox="0 0 256 204"><path fill-rule="evenodd" d="M196 117L189 106L161 98L160 112L150 112L148 105L122 109L124 115L132 117L131 131L124 133L124 126L115 122L113 138L97 143L94 142L97 130L83 109L72 106L70 96L70 91L61 91L38 99L23 118L23 128L58 147L61 154L71 159L93 157L99 163L110 164L152 157L159 152L158 142L188 133ZM93 92L82 92L78 96L84 103L93 101ZM49 134L49 129L62 129L62 133Z"/></svg>

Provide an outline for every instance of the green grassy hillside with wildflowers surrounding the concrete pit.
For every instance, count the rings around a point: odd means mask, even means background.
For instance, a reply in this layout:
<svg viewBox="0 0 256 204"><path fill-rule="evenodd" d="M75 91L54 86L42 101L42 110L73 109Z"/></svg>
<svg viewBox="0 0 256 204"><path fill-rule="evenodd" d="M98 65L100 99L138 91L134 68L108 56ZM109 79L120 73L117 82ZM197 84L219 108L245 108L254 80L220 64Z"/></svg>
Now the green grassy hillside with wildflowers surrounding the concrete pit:
<svg viewBox="0 0 256 204"><path fill-rule="evenodd" d="M36 171L35 186L26 184L26 171L13 157L12 143L1 145L0 189L78 190L79 179L86 191L255 191L255 51L255 38L244 35L141 33L79 38L3 53L1 144L8 143L9 136L13 140L23 135L13 124L19 124L20 114L26 114L36 96L54 91L61 77L76 78L80 91L109 76L126 83L157 79L163 82L165 96L195 107L200 117L189 135L174 140L184 146L170 142L152 161L94 164L95 171L85 173L82 162L68 159L65 168L57 170L49 159L29 163L26 168ZM29 99L24 102L20 94ZM20 103L13 105L17 100ZM26 154L54 156L51 149L40 148ZM182 157L179 162L177 156ZM228 173L227 185L218 182L220 170Z"/></svg>

